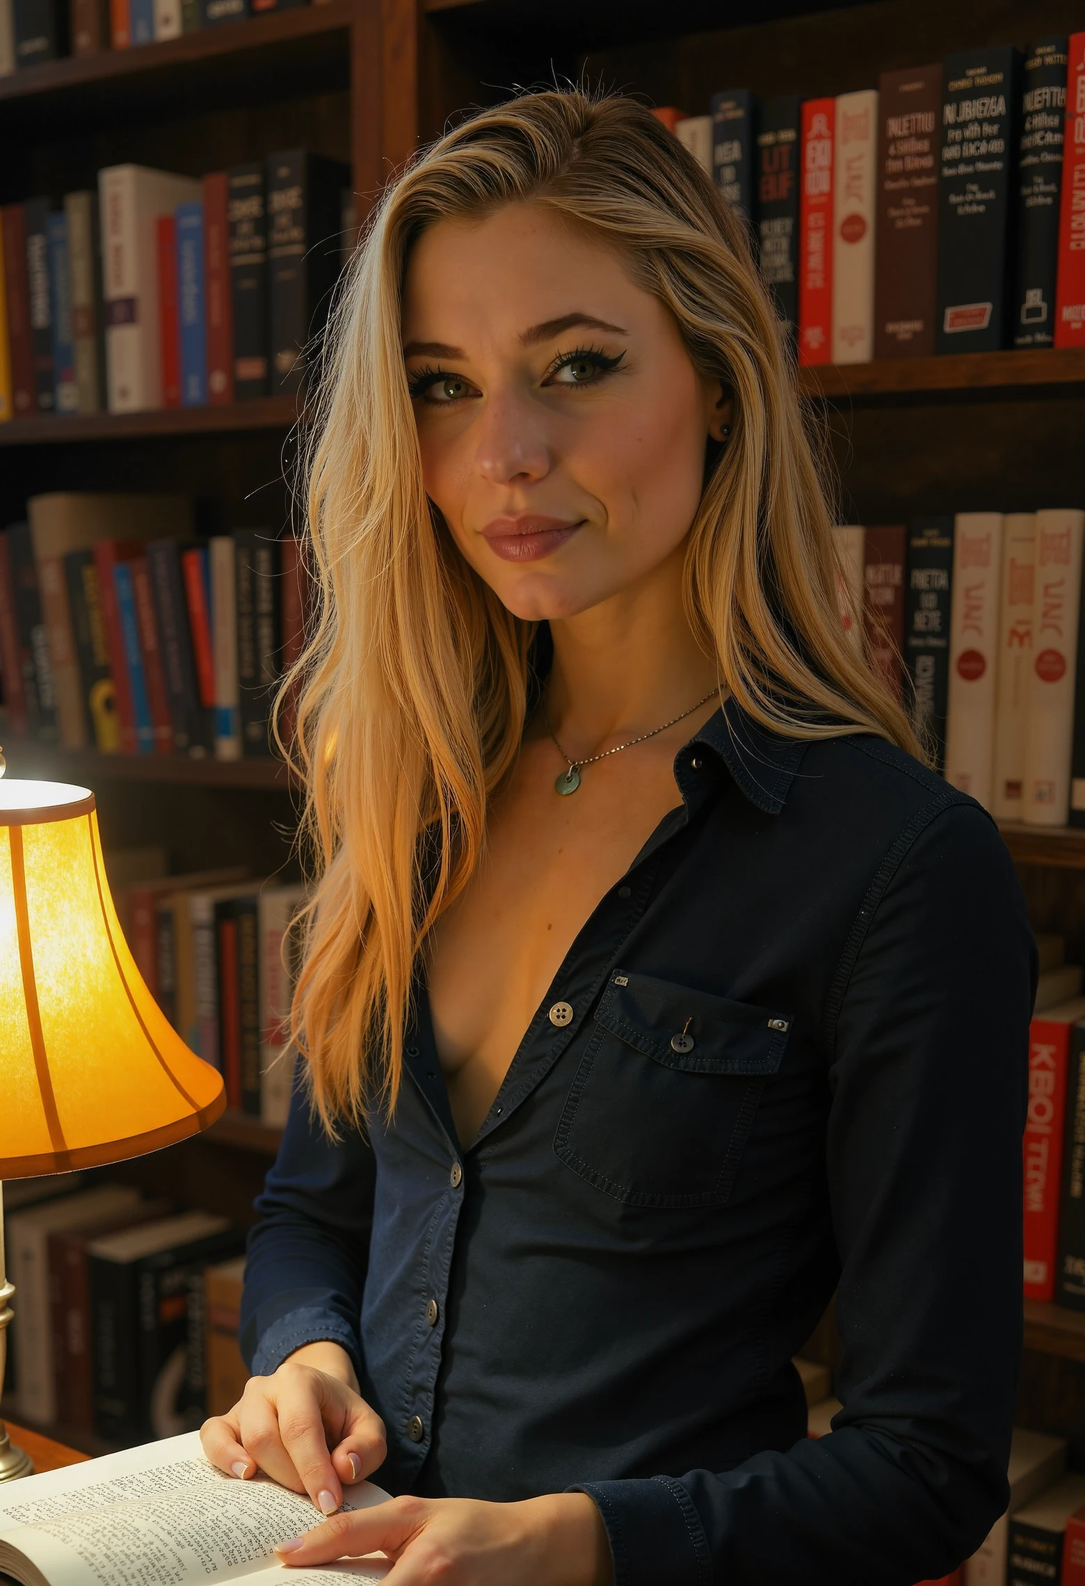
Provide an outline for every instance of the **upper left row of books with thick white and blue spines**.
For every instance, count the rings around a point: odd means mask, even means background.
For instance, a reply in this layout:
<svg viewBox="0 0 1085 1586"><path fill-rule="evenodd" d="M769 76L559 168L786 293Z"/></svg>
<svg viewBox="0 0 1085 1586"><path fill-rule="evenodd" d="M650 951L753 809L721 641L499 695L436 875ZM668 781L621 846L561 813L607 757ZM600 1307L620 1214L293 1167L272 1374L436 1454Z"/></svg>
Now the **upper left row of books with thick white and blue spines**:
<svg viewBox="0 0 1085 1586"><path fill-rule="evenodd" d="M279 149L141 165L0 209L0 419L298 390L354 236L349 167Z"/></svg>

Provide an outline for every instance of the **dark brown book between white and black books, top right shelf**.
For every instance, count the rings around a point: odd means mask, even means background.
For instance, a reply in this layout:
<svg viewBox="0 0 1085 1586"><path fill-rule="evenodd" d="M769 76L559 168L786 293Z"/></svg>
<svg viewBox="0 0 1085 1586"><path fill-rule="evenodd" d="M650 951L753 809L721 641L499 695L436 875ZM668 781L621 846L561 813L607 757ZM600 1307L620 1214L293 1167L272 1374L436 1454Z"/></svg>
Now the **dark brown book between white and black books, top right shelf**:
<svg viewBox="0 0 1085 1586"><path fill-rule="evenodd" d="M934 352L942 68L879 78L874 357Z"/></svg>

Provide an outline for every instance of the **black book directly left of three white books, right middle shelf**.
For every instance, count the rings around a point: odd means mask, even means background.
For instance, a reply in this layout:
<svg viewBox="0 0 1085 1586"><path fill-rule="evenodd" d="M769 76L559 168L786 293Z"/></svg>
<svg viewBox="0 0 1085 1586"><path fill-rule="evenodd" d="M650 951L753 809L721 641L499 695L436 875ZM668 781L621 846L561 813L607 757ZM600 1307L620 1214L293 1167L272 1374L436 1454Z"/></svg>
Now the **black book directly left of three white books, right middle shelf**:
<svg viewBox="0 0 1085 1586"><path fill-rule="evenodd" d="M915 730L945 763L949 699L950 584L953 519L925 517L909 525L904 587L904 665L912 685Z"/></svg>

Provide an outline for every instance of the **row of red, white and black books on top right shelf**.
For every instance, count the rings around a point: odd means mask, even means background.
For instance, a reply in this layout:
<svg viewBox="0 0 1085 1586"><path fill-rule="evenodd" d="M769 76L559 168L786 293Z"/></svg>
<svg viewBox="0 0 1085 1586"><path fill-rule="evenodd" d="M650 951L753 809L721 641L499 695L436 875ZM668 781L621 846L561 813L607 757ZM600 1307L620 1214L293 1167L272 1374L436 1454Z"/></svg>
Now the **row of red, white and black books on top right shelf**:
<svg viewBox="0 0 1085 1586"><path fill-rule="evenodd" d="M799 363L1085 346L1085 33L657 114L749 217Z"/></svg>

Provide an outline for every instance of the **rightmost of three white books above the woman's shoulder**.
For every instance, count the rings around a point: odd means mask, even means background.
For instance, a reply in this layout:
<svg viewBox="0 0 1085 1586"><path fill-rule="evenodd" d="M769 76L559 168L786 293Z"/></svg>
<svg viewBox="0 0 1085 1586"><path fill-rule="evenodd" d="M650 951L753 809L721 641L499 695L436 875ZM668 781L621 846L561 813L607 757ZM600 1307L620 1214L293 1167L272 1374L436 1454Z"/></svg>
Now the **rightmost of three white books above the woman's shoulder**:
<svg viewBox="0 0 1085 1586"><path fill-rule="evenodd" d="M1083 531L1085 512L1036 514L1036 615L1023 810L1033 826L1064 826L1069 817Z"/></svg>

